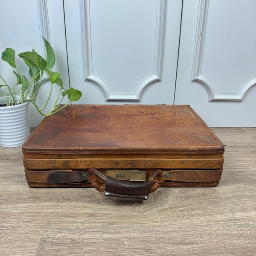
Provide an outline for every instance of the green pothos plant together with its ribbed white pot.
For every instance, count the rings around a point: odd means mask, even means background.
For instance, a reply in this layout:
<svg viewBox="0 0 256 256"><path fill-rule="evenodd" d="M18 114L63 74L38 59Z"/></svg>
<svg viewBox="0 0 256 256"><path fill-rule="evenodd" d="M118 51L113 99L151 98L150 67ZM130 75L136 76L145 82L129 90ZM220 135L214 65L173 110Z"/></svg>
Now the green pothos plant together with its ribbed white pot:
<svg viewBox="0 0 256 256"><path fill-rule="evenodd" d="M42 116L50 116L57 113L70 102L81 98L81 91L74 88L65 89L60 73L51 71L55 65L55 54L49 44L44 39L46 49L46 59L32 49L31 52L22 52L18 56L23 59L23 63L28 67L30 79L22 75L16 65L15 50L6 48L2 53L2 60L6 61L13 70L17 78L15 85L9 85L0 74L0 145L4 147L16 147L23 145L30 134L30 106L33 104L38 113ZM40 87L43 81L43 73L49 78L51 86L49 95L42 107L36 103ZM44 113L49 99L52 95L53 86L58 86L58 94L55 97L55 103L48 113ZM66 100L65 104L60 104Z"/></svg>

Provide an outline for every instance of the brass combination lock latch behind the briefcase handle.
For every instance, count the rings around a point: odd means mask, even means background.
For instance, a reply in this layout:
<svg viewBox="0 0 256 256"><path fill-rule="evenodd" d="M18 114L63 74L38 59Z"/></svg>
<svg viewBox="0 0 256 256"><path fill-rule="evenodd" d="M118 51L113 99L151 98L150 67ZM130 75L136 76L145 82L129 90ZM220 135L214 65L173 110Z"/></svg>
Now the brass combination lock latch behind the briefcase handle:
<svg viewBox="0 0 256 256"><path fill-rule="evenodd" d="M106 175L117 180L145 181L146 171L111 169L106 170Z"/></svg>

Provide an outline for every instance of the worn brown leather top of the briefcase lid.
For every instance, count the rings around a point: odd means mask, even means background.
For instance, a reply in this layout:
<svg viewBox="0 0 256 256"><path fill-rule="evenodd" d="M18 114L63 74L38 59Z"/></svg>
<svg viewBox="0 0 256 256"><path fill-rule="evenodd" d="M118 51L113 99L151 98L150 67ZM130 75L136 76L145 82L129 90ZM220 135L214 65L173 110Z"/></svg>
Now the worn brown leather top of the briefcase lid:
<svg viewBox="0 0 256 256"><path fill-rule="evenodd" d="M189 105L68 105L23 145L39 154L221 154L224 145Z"/></svg>

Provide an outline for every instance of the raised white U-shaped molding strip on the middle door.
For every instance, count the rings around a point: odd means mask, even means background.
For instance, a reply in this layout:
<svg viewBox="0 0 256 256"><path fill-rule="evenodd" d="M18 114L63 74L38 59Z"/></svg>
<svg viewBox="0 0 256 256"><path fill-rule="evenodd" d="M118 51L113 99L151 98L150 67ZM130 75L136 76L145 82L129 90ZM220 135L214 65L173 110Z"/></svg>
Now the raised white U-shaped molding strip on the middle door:
<svg viewBox="0 0 256 256"><path fill-rule="evenodd" d="M140 102L143 91L150 84L161 81L162 77L162 62L163 62L163 29L164 29L164 14L166 0L157 0L157 17L156 17L156 32L154 45L154 70L153 73L142 79L134 92L131 93L113 93L111 84L100 77L99 74L93 73L93 56L91 42L91 27L90 27L90 0L81 0L82 18L84 29L84 63L85 63L85 81L90 81L99 86L105 94L106 101L117 102Z"/></svg>

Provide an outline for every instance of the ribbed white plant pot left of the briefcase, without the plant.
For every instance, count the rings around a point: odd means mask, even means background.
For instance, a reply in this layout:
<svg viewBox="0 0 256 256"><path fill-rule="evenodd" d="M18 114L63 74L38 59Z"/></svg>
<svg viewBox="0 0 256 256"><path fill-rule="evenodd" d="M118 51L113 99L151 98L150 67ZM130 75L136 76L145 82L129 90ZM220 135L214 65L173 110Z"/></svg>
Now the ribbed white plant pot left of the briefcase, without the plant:
<svg viewBox="0 0 256 256"><path fill-rule="evenodd" d="M4 97L0 97L0 104L4 103ZM0 107L0 146L5 148L21 146L29 134L29 102L10 107Z"/></svg>

